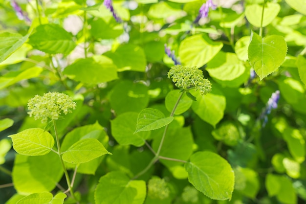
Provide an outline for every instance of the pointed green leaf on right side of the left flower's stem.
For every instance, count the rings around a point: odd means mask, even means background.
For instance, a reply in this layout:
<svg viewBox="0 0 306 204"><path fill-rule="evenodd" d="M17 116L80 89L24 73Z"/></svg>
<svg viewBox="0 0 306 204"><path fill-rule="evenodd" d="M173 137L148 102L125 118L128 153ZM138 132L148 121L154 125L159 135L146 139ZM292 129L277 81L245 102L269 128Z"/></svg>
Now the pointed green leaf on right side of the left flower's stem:
<svg viewBox="0 0 306 204"><path fill-rule="evenodd" d="M63 153L63 160L69 163L85 163L92 159L110 154L103 144L95 138L82 139Z"/></svg>

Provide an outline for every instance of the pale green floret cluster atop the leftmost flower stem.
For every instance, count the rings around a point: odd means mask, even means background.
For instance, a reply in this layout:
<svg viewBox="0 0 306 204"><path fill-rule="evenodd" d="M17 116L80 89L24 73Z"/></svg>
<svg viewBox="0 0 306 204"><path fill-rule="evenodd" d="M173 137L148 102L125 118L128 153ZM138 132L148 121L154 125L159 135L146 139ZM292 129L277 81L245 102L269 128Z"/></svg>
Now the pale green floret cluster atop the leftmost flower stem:
<svg viewBox="0 0 306 204"><path fill-rule="evenodd" d="M43 96L35 95L28 101L28 114L34 115L34 119L42 119L42 123L47 122L48 118L57 120L60 114L71 113L70 109L75 109L76 103L72 98L64 93L48 92Z"/></svg>

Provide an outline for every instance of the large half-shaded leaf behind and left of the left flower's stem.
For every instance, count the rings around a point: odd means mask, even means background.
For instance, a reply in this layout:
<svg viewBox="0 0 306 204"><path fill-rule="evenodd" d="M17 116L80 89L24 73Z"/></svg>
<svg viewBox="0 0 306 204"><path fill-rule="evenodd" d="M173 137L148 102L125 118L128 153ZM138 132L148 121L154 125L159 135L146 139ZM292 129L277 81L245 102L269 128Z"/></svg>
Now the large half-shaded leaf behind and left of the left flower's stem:
<svg viewBox="0 0 306 204"><path fill-rule="evenodd" d="M28 195L52 191L63 174L59 156L54 152L36 157L16 155L12 179L17 192Z"/></svg>

